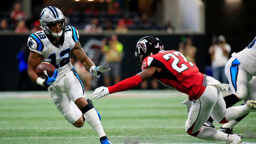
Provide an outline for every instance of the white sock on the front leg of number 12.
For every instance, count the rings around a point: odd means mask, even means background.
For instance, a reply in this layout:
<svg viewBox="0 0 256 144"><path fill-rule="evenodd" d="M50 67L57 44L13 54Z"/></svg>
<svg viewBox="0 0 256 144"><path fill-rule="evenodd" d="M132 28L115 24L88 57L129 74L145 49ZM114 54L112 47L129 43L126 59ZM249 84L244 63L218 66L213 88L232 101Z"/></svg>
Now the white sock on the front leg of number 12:
<svg viewBox="0 0 256 144"><path fill-rule="evenodd" d="M84 115L85 121L91 125L99 137L101 138L106 136L95 108L91 105L86 105L81 111Z"/></svg>

